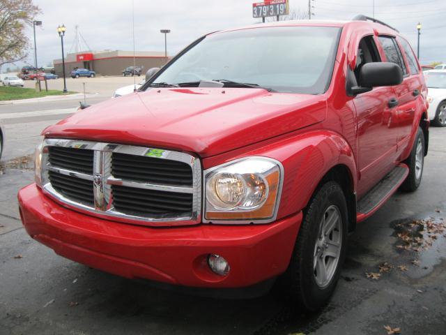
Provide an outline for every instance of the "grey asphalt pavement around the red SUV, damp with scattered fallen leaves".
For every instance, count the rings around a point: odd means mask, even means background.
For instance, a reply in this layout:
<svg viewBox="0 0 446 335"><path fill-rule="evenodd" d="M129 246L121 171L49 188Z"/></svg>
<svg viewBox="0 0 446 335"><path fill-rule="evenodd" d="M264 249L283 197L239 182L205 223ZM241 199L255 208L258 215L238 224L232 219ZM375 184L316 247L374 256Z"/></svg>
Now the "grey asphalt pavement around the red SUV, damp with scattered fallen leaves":
<svg viewBox="0 0 446 335"><path fill-rule="evenodd" d="M98 102L132 83L117 78L82 81ZM69 80L68 89L80 91L79 83ZM446 129L431 128L419 190L397 192L357 226L332 301L304 315L273 293L222 300L158 290L33 241L20 222L17 191L33 181L30 154L40 131L76 105L0 105L9 139L0 164L0 334L387 334L387 326L445 334Z"/></svg>

